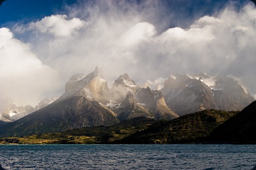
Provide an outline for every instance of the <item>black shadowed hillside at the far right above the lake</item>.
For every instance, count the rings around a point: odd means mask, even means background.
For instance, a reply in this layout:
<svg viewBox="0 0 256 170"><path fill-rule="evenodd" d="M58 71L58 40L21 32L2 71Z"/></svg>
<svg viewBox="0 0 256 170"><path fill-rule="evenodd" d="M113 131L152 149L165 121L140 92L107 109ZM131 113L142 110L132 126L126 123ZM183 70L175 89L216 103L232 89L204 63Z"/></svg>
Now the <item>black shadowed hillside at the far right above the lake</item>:
<svg viewBox="0 0 256 170"><path fill-rule="evenodd" d="M216 128L210 135L214 142L256 142L256 101Z"/></svg>

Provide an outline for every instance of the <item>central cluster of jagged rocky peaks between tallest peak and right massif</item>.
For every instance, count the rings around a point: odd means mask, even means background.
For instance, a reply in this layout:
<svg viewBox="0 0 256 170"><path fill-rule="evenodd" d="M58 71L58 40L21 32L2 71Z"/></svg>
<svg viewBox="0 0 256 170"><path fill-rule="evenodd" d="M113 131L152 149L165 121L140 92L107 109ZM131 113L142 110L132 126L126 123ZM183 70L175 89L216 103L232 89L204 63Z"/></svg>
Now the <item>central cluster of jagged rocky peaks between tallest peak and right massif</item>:
<svg viewBox="0 0 256 170"><path fill-rule="evenodd" d="M139 116L167 120L179 117L165 105L160 91L140 88L126 73L115 80L111 91L116 104L110 108L120 121Z"/></svg>

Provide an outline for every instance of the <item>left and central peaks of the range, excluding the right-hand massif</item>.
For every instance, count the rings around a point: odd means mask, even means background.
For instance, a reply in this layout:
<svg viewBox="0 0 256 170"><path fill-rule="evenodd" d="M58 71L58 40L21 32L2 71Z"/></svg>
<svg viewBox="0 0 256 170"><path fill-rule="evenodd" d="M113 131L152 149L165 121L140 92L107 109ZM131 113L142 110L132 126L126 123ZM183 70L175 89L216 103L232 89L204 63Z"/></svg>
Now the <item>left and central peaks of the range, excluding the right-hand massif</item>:
<svg viewBox="0 0 256 170"><path fill-rule="evenodd" d="M126 96L116 98L113 91L126 93ZM143 96L144 92L151 98ZM110 126L120 120L139 116L153 119L179 117L166 106L161 92L140 88L127 74L120 76L110 91L102 71L96 67L87 76L78 74L71 77L60 98L5 125L0 133L23 136L82 127Z"/></svg>

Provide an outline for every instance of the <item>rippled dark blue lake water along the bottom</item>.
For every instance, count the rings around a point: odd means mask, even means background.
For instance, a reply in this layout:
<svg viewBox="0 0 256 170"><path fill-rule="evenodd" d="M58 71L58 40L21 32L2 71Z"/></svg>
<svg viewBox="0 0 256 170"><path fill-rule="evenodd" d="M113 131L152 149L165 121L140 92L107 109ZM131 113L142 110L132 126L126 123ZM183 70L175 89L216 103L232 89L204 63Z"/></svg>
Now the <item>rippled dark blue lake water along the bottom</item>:
<svg viewBox="0 0 256 170"><path fill-rule="evenodd" d="M256 145L0 145L5 169L252 169Z"/></svg>

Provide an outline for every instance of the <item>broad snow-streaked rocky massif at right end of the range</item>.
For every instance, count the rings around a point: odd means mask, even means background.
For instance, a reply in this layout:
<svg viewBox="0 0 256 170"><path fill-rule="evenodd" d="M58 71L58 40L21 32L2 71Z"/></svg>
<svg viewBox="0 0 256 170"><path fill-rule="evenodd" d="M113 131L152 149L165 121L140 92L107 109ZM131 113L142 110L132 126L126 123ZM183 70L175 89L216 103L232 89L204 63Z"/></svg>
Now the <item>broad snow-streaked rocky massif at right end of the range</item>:
<svg viewBox="0 0 256 170"><path fill-rule="evenodd" d="M160 91L179 115L205 109L242 110L254 101L236 79L206 74L170 75Z"/></svg>

